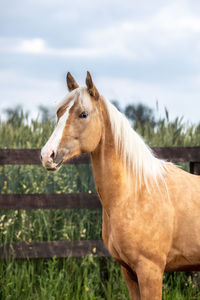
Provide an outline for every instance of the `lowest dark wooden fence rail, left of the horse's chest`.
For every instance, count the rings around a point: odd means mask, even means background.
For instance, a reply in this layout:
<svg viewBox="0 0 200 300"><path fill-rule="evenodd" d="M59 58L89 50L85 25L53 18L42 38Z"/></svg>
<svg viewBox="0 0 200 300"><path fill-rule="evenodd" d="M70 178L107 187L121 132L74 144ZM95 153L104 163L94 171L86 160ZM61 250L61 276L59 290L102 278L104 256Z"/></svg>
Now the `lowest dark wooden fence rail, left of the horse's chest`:
<svg viewBox="0 0 200 300"><path fill-rule="evenodd" d="M0 258L110 256L102 240L12 243L0 246Z"/></svg>

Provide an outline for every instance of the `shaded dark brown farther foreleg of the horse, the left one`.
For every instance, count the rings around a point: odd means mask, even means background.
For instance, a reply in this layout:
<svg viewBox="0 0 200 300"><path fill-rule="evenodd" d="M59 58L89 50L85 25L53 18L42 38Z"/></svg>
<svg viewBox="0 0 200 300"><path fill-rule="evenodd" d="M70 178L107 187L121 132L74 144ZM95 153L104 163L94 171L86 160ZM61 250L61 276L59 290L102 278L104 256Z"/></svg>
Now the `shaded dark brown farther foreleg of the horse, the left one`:
<svg viewBox="0 0 200 300"><path fill-rule="evenodd" d="M137 275L125 267L122 267L122 272L124 275L124 280L129 290L131 300L140 300L140 291L138 285Z"/></svg>

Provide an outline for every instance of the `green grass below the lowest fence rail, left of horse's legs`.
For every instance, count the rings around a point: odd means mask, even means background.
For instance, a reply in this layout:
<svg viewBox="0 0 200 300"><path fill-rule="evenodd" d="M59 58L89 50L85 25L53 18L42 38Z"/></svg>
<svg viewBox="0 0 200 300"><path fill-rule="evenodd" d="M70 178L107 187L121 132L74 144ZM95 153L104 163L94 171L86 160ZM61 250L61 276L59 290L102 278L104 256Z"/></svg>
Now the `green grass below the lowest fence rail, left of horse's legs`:
<svg viewBox="0 0 200 300"><path fill-rule="evenodd" d="M11 260L1 264L2 299L128 299L117 263L102 258ZM20 277L20 279L19 279ZM119 288L120 285L120 288Z"/></svg>

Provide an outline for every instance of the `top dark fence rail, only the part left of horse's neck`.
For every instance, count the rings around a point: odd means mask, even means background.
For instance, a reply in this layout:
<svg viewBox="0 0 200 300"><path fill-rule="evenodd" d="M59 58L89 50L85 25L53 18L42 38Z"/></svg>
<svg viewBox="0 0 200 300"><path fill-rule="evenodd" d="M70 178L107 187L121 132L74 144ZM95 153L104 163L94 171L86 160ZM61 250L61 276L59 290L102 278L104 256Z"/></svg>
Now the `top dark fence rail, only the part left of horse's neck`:
<svg viewBox="0 0 200 300"><path fill-rule="evenodd" d="M90 156L82 154L66 162L67 164L88 164ZM0 149L0 165L39 165L40 149Z"/></svg>

